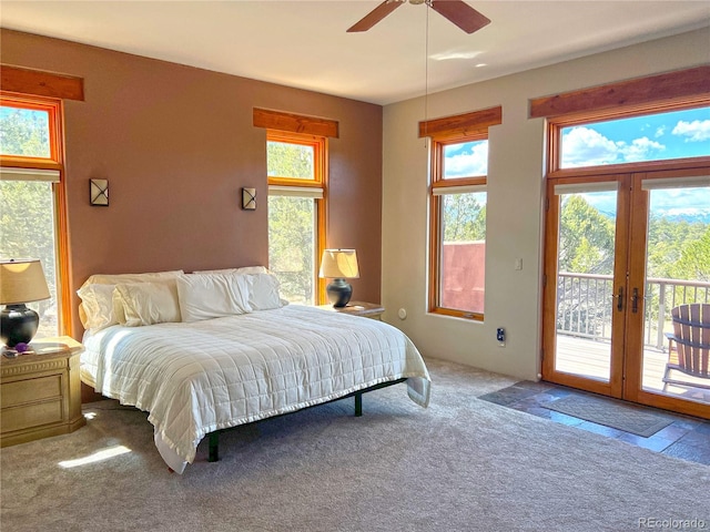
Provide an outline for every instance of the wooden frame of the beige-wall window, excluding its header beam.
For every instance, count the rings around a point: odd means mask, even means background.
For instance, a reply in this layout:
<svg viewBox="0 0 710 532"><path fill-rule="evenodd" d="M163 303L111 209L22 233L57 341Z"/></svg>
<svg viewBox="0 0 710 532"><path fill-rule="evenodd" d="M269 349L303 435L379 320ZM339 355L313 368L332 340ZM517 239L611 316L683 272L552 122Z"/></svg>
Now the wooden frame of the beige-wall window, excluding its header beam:
<svg viewBox="0 0 710 532"><path fill-rule="evenodd" d="M444 147L452 144L464 144L466 142L489 141L488 129L471 131L468 134L432 136L432 185L429 187L429 289L427 294L427 310L429 314L452 316L456 318L469 319L471 321L483 321L485 313L474 313L459 310L440 305L442 300L442 246L443 246L443 196L458 194L457 188L463 186L484 186L488 184L488 176L466 176L444 178ZM434 192L438 191L438 194ZM449 192L450 191L450 192ZM486 193L487 193L486 188ZM486 202L487 204L488 202ZM487 232L486 232L487 233ZM486 235L487 237L487 235ZM485 293L485 291L484 291Z"/></svg>

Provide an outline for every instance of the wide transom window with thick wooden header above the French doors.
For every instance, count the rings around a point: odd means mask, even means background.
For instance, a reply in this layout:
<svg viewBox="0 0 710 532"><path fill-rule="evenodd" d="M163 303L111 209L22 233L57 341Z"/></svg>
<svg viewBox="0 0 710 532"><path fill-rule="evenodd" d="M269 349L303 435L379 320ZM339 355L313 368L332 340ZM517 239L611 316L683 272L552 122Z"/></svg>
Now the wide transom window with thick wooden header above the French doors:
<svg viewBox="0 0 710 532"><path fill-rule="evenodd" d="M710 65L532 99L548 121L547 176L696 167L710 161Z"/></svg>

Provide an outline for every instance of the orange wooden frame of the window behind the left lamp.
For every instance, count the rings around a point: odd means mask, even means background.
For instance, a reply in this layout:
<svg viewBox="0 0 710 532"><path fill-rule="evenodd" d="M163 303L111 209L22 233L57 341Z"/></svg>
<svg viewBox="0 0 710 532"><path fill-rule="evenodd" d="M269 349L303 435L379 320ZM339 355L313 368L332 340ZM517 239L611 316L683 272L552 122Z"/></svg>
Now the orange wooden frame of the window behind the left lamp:
<svg viewBox="0 0 710 532"><path fill-rule="evenodd" d="M4 73L3 73L4 80ZM55 212L57 238L57 294L59 298L59 334L71 336L72 330L72 294L70 289L69 267L69 222L67 217L67 180L64 177L64 124L63 103L61 100L44 98L16 96L0 93L3 105L22 109L47 109L50 111L50 153L51 160L39 157L23 157L0 155L0 166L16 166L23 168L58 170L59 183L52 184Z"/></svg>

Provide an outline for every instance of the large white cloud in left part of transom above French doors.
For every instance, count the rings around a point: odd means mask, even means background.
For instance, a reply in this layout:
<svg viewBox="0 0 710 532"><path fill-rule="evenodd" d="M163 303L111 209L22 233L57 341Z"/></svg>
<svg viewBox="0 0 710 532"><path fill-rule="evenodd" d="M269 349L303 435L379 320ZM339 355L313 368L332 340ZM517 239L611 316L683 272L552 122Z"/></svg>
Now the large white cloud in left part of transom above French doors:
<svg viewBox="0 0 710 532"><path fill-rule="evenodd" d="M642 136L631 143L615 142L596 130L572 127L562 139L562 167L596 166L652 160L666 146Z"/></svg>

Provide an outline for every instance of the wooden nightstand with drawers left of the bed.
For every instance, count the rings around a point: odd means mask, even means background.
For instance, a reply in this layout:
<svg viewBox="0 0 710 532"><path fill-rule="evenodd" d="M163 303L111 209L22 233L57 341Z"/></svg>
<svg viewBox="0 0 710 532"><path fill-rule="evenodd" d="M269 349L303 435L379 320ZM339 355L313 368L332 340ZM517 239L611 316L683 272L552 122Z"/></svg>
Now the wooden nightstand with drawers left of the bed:
<svg viewBox="0 0 710 532"><path fill-rule="evenodd" d="M68 336L40 338L33 352L0 356L0 447L65 434L87 421L81 413L79 357Z"/></svg>

